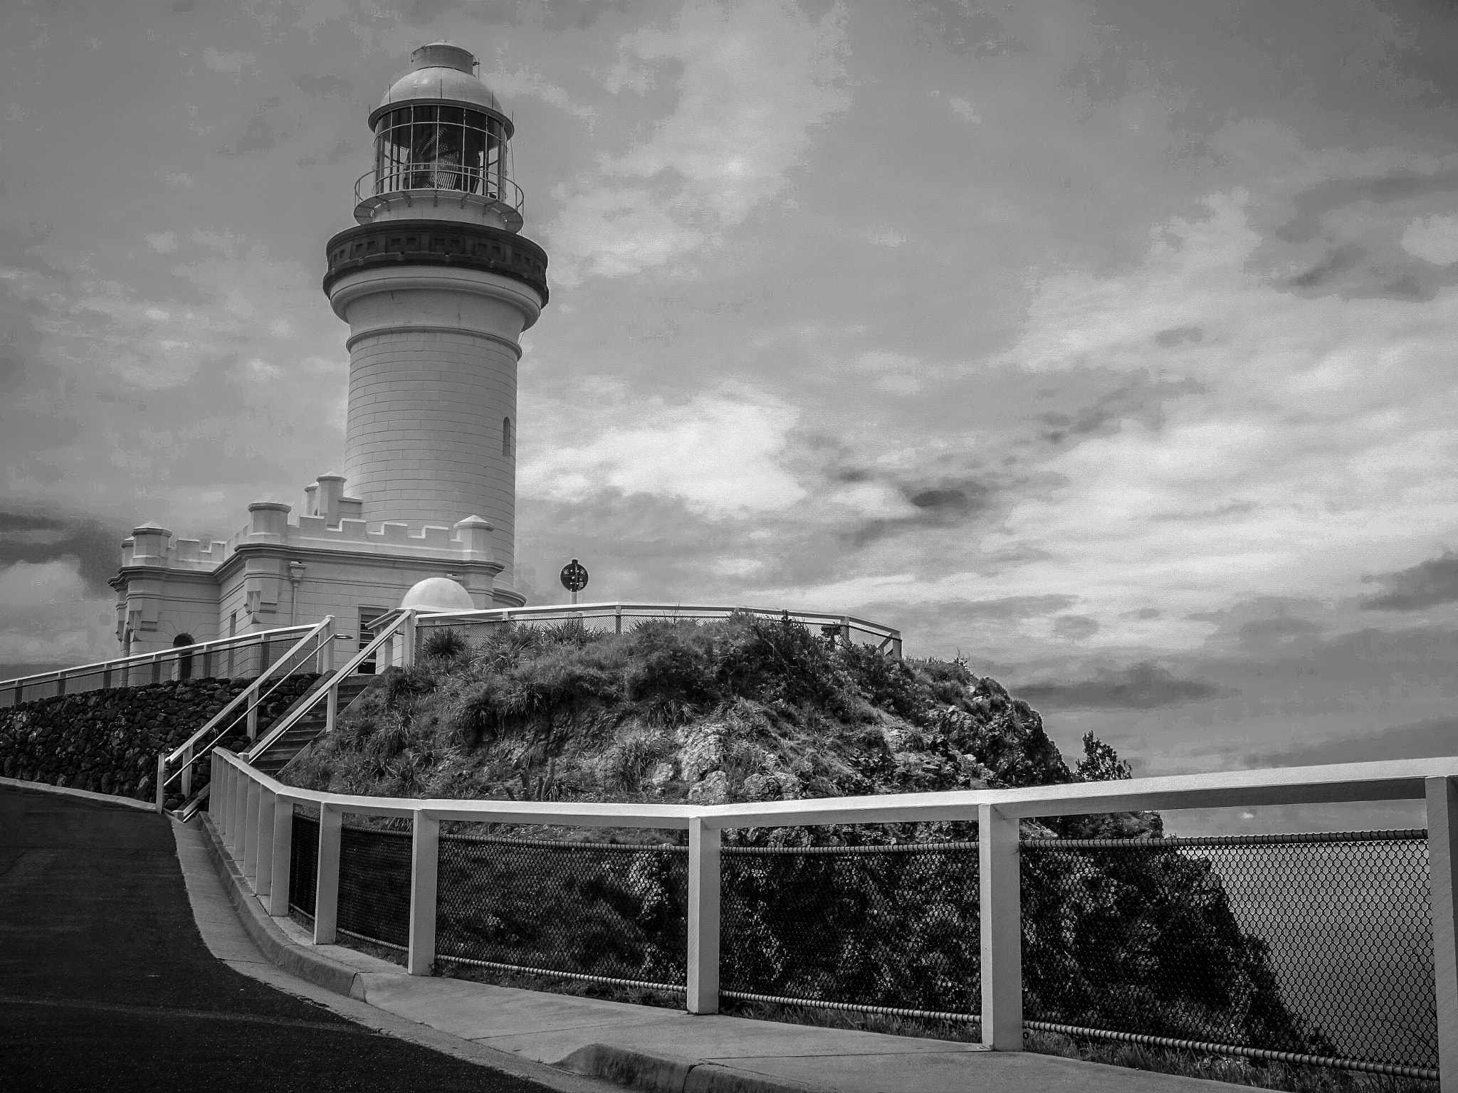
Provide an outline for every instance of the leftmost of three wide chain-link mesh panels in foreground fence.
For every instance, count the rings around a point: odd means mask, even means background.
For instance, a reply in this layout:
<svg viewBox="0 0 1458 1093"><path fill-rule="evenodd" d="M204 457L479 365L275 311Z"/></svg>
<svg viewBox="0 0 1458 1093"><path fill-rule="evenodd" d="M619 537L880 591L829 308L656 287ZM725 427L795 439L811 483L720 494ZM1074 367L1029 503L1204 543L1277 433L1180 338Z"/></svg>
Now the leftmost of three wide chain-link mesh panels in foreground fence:
<svg viewBox="0 0 1458 1093"><path fill-rule="evenodd" d="M688 848L442 835L436 953L681 992Z"/></svg>

